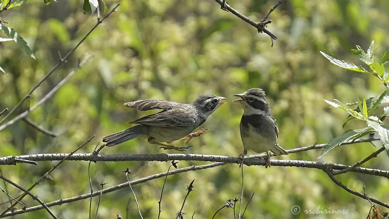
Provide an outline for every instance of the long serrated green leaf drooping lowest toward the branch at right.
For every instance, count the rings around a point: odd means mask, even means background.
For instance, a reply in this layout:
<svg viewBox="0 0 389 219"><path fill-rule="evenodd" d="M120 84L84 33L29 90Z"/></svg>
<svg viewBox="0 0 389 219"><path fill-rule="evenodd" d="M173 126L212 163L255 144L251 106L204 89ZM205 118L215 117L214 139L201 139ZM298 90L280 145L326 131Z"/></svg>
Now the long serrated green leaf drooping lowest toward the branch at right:
<svg viewBox="0 0 389 219"><path fill-rule="evenodd" d="M346 141L361 138L362 136L365 136L366 134L371 134L371 133L374 133L374 131L371 127L364 127L362 129L347 130L343 134L336 136L331 141L329 141L329 143L324 147L320 156L317 158L318 159L321 158L322 156L324 156L324 154L327 154L327 152L329 152L329 150L335 148L338 145L345 143Z"/></svg>

